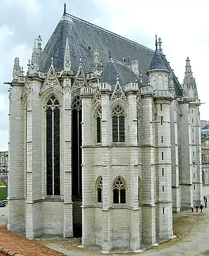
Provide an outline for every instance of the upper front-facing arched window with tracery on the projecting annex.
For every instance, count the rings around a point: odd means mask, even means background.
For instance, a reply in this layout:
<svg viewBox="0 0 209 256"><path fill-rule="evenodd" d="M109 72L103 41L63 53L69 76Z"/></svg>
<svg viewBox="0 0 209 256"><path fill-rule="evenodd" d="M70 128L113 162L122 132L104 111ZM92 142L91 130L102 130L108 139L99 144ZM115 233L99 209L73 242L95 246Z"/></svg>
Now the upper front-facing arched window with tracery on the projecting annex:
<svg viewBox="0 0 209 256"><path fill-rule="evenodd" d="M113 109L112 127L113 142L125 142L125 114L120 105Z"/></svg>

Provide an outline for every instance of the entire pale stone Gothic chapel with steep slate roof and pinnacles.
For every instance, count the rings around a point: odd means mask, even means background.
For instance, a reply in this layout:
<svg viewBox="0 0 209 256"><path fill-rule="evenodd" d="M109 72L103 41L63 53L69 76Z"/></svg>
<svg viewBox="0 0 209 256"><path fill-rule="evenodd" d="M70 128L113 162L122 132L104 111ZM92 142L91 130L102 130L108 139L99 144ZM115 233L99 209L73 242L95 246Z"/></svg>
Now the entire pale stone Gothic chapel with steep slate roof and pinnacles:
<svg viewBox="0 0 209 256"><path fill-rule="evenodd" d="M102 252L172 238L202 198L200 100L155 51L64 15L9 90L8 229Z"/></svg>

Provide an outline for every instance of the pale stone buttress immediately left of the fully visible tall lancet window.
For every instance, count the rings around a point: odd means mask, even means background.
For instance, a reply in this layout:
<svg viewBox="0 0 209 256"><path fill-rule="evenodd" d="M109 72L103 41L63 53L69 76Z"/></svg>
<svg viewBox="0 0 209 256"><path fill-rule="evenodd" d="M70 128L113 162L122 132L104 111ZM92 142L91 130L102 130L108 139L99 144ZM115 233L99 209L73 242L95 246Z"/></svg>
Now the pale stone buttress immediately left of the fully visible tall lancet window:
<svg viewBox="0 0 209 256"><path fill-rule="evenodd" d="M42 235L42 111L41 82L28 81L26 111L26 237Z"/></svg>

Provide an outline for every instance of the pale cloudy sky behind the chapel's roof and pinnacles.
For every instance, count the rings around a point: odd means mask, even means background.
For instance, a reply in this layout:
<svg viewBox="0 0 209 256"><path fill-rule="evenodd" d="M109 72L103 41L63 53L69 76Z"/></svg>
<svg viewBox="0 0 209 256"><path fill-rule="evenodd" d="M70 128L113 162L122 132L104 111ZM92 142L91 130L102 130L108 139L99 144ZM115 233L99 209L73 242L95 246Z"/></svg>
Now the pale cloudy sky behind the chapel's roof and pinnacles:
<svg viewBox="0 0 209 256"><path fill-rule="evenodd" d="M65 0L67 13L154 49L155 34L182 84L185 60L191 60L201 119L209 119L208 0ZM63 13L62 0L0 0L0 151L8 150L8 85L13 62L25 67L33 41L47 43Z"/></svg>

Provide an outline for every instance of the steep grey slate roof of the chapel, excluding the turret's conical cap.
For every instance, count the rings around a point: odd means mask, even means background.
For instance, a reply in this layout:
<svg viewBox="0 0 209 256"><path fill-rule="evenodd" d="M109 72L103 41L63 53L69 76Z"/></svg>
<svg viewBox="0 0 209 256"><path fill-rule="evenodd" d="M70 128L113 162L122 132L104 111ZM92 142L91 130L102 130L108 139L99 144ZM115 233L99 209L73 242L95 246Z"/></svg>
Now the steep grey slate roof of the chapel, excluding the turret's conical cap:
<svg viewBox="0 0 209 256"><path fill-rule="evenodd" d="M67 37L71 51L72 70L77 71L79 58L81 57L84 71L93 71L94 50L98 49L99 57L103 62L103 70L105 72L102 78L104 82L113 83L114 81L113 84L115 84L116 71L119 73L121 83L135 81L135 75L133 75L133 71L130 70L128 65L125 66L120 63L115 63L115 68L113 68L115 71L113 71L113 73L110 72L111 66L113 65L113 63L110 63L110 52L111 58L116 59L119 62L123 62L125 58L125 64L133 59L138 59L143 82L144 84L147 84L146 73L152 62L154 51L67 13L64 13L62 16L44 47L42 54L40 54L39 67L41 71L48 71L52 56L54 58L55 69L57 71L63 69ZM164 62L166 63L166 66L169 66L165 58ZM170 69L171 68L169 67L169 70ZM176 95L182 95L181 88L179 88L181 86L175 81L176 78L174 76L174 84L177 87Z"/></svg>

